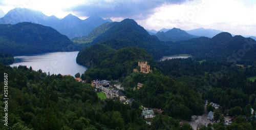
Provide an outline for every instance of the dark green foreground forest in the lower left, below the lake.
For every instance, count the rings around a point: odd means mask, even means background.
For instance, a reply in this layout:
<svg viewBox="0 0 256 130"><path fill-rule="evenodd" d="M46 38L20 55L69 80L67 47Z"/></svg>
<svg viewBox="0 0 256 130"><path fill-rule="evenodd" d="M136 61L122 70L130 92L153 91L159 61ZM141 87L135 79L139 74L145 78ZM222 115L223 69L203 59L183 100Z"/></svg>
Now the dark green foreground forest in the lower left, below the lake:
<svg viewBox="0 0 256 130"><path fill-rule="evenodd" d="M8 74L8 126L0 129L147 129L139 104L101 100L91 84L26 66L0 65ZM1 75L1 90L4 90ZM3 95L1 115L4 115ZM173 119L170 119L173 120ZM3 120L1 121L1 124Z"/></svg>

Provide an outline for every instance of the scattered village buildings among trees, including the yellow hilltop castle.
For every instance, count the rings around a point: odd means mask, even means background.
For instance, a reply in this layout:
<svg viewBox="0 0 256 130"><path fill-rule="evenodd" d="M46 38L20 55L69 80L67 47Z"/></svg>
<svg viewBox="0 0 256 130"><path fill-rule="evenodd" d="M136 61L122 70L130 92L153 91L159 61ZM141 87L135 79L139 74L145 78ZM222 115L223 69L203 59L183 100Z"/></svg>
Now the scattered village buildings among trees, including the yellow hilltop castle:
<svg viewBox="0 0 256 130"><path fill-rule="evenodd" d="M139 69L134 69L134 72L142 72L142 73L151 73L152 70L150 70L150 65L147 64L147 62L138 62ZM71 76L71 75L63 75L63 76ZM75 80L80 82L85 82L81 80L80 78L75 78ZM113 100L120 100L124 104L132 104L133 101L136 101L135 99L128 99L122 91L124 91L125 88L121 86L121 83L118 80L93 80L91 82L91 85L95 88L95 91L97 92L99 98L101 99L113 99ZM134 91L139 90L140 88L143 88L143 83L138 82L137 86L134 87ZM214 120L214 112L210 111L208 112L206 110L206 106L210 104L215 109L218 109L221 107L219 104L214 102L208 102L205 101L205 113L203 115L193 115L191 116L191 121L188 122L193 129L200 129L202 126L207 126L210 124L212 126L215 123L218 123L219 120ZM152 109L148 107L140 106L141 108L141 117L145 119L145 123L151 125L152 118L155 117L157 114L162 114L164 116L164 111L161 109ZM253 111L253 110L252 110ZM231 119L232 117L225 116L225 125L230 125L232 123ZM180 121L180 126L183 125L184 122L187 121Z"/></svg>

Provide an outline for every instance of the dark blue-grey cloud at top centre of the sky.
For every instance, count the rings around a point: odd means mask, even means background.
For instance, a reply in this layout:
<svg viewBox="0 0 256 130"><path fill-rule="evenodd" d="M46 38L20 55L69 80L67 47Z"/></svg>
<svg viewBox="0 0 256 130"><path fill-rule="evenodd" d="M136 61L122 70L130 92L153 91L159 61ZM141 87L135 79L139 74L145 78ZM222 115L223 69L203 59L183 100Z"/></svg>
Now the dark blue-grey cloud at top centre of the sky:
<svg viewBox="0 0 256 130"><path fill-rule="evenodd" d="M101 16L101 17L125 17L133 19L144 19L147 15L154 13L154 8L163 4L181 4L192 0L151 0L151 1L91 1L82 5L70 7L65 11L76 12L78 16Z"/></svg>

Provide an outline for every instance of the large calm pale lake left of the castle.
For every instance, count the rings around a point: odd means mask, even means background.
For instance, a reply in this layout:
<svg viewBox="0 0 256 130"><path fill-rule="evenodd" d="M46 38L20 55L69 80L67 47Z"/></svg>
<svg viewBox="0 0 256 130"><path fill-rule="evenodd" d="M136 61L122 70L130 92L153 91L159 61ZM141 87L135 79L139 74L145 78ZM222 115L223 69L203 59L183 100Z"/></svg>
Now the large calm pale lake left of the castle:
<svg viewBox="0 0 256 130"><path fill-rule="evenodd" d="M28 68L31 66L35 71L41 69L42 72L50 72L50 74L75 76L76 73L83 74L88 69L76 63L77 54L78 51L15 56L15 62L10 66L23 65Z"/></svg>

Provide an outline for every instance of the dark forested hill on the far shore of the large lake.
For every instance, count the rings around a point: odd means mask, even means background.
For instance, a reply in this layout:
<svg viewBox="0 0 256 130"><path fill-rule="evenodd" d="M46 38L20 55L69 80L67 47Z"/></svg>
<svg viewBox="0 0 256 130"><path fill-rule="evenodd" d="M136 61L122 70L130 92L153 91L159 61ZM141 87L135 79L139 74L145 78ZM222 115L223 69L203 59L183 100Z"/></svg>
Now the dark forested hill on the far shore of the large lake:
<svg viewBox="0 0 256 130"><path fill-rule="evenodd" d="M67 36L51 27L27 22L0 25L0 42L0 52L13 55L67 51L73 44Z"/></svg>

